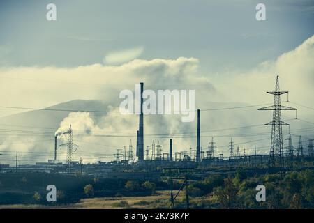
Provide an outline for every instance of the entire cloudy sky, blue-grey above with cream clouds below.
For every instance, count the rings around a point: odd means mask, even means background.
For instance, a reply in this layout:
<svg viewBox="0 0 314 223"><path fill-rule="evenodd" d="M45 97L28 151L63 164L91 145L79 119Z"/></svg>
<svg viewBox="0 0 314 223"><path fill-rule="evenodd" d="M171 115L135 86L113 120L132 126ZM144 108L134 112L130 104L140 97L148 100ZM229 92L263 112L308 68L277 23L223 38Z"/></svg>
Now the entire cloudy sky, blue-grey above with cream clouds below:
<svg viewBox="0 0 314 223"><path fill-rule="evenodd" d="M57 21L46 20L47 3L56 4ZM107 106L104 109L115 109L119 92L133 90L142 81L149 89L195 89L200 109L260 105L272 102L265 91L274 89L275 77L280 75L282 89L290 91L291 102L286 105L297 107L300 118L313 121L314 1L263 1L266 21L255 19L257 3L1 0L0 105L42 108L85 99L101 100ZM0 108L0 116L17 112L21 111ZM248 110L202 112L202 127L260 124L271 118L264 113L257 121ZM292 118L294 113L284 117ZM99 123L91 123L89 114L72 114L64 123L77 118L82 120L76 125L80 130L135 132L137 128L136 117L127 121L117 114L108 114ZM150 133L195 131L195 123L181 125L175 117L145 121L156 125L145 129ZM291 126L296 130L311 127L311 123ZM260 130L267 131L267 127ZM239 134L227 134L233 133ZM311 135L313 131L306 132L306 137ZM180 140L178 145L195 146L194 139ZM209 139L202 140L207 147ZM228 140L221 139L220 145ZM10 145L10 139L3 141ZM128 141L124 139L123 144ZM107 139L107 143L123 146L120 139ZM264 141L260 147L267 144Z"/></svg>

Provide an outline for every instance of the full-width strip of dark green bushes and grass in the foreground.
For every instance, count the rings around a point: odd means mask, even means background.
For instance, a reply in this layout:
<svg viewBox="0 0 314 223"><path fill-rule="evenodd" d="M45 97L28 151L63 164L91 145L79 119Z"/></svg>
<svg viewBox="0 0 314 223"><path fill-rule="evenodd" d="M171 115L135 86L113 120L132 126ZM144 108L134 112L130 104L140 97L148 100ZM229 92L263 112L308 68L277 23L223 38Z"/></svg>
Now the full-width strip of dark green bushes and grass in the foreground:
<svg viewBox="0 0 314 223"><path fill-rule="evenodd" d="M248 169L201 171L202 175L200 171L193 171L188 176L190 208L314 208L313 169L271 174L265 173L267 170ZM24 203L63 208L170 208L167 174L162 180L154 182L45 174L33 176L27 173L7 176L0 178L0 204ZM176 177L181 176L177 174ZM52 182L57 182L57 203L48 204L45 201L47 192L42 185ZM182 182L179 179L173 181L175 194ZM265 202L255 199L257 185L266 187ZM176 201L184 202L185 199L186 188L179 192ZM184 205L176 207L184 208Z"/></svg>

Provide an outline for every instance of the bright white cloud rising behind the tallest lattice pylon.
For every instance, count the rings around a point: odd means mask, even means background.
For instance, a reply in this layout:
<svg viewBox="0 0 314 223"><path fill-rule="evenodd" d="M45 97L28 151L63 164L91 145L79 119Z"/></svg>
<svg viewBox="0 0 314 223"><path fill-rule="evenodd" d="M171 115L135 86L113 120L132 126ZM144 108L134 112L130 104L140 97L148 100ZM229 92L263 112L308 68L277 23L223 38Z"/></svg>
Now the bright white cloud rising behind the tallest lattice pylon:
<svg viewBox="0 0 314 223"><path fill-rule="evenodd" d="M278 56L274 61L265 61L253 70L234 74L230 84L220 88L234 101L252 104L272 102L266 91L274 91L276 75L279 75L281 90L289 91L290 100L314 106L314 36L298 47ZM230 87L233 93L228 93ZM243 99L243 100L242 100ZM286 100L286 95L282 96ZM292 105L290 105L292 106ZM301 112L306 110L301 109ZM308 111L307 111L308 112Z"/></svg>

